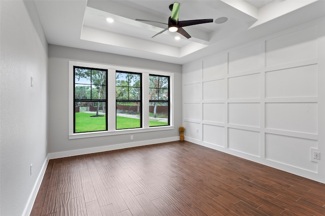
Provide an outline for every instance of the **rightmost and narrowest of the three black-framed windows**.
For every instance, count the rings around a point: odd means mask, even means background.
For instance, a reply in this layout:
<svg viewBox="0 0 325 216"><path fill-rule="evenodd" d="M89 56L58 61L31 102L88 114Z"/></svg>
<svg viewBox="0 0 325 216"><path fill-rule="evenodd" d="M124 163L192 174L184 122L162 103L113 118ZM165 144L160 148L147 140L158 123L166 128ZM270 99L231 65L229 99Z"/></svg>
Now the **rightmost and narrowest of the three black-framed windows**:
<svg viewBox="0 0 325 216"><path fill-rule="evenodd" d="M149 126L170 125L169 76L149 75Z"/></svg>

